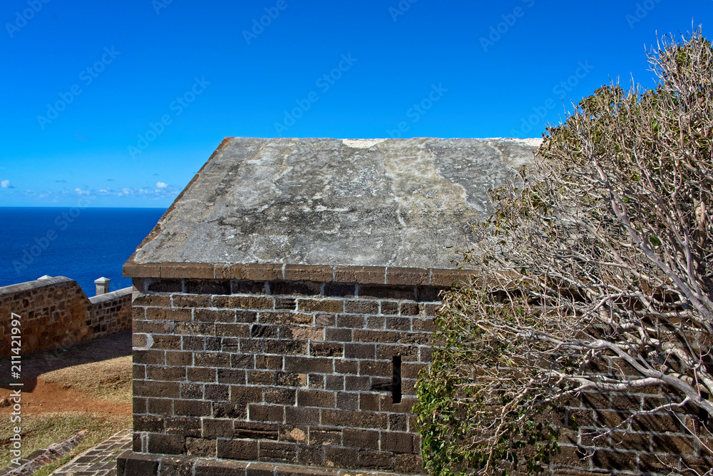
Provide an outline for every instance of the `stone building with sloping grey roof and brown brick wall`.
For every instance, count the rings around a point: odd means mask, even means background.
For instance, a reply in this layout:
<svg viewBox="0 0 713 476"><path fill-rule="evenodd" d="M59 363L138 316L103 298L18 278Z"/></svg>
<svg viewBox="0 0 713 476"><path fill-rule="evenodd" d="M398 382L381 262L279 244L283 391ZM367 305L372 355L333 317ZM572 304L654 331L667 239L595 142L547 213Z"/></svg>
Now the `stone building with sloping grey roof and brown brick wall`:
<svg viewBox="0 0 713 476"><path fill-rule="evenodd" d="M438 292L534 145L223 141L124 266L120 475L421 472L411 407Z"/></svg>

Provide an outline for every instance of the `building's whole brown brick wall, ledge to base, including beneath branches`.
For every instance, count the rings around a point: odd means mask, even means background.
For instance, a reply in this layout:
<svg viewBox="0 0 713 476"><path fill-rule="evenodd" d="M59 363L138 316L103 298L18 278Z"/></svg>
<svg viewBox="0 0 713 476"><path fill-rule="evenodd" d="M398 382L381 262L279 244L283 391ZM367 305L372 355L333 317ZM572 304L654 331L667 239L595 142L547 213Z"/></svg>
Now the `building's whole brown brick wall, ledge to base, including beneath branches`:
<svg viewBox="0 0 713 476"><path fill-rule="evenodd" d="M414 384L431 361L438 291L465 272L127 268L143 277L134 278L134 445L120 476L424 471ZM703 474L713 441L688 432L700 425L690 409L650 411L666 401L658 387L573 398L549 474Z"/></svg>

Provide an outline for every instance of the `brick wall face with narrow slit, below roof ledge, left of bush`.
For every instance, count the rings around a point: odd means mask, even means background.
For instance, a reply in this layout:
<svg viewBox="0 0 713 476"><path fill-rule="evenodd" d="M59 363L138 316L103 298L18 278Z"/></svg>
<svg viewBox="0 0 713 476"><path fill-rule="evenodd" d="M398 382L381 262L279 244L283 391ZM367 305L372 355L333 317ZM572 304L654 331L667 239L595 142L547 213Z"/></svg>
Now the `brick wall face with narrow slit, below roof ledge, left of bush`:
<svg viewBox="0 0 713 476"><path fill-rule="evenodd" d="M439 288L134 285L135 452L421 472L411 407Z"/></svg>

